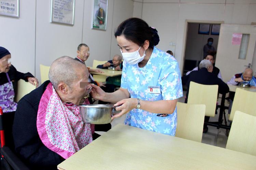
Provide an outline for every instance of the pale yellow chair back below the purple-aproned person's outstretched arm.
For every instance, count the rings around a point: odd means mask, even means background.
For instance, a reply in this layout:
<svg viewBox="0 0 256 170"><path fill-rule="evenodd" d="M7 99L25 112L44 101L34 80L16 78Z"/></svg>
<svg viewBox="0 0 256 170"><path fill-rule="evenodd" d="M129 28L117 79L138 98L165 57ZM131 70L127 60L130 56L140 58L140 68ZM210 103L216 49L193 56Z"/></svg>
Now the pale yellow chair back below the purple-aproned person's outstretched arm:
<svg viewBox="0 0 256 170"><path fill-rule="evenodd" d="M26 94L29 94L35 88L36 85L32 85L31 83L25 82L24 80L20 79L18 81L16 102L18 102Z"/></svg>

